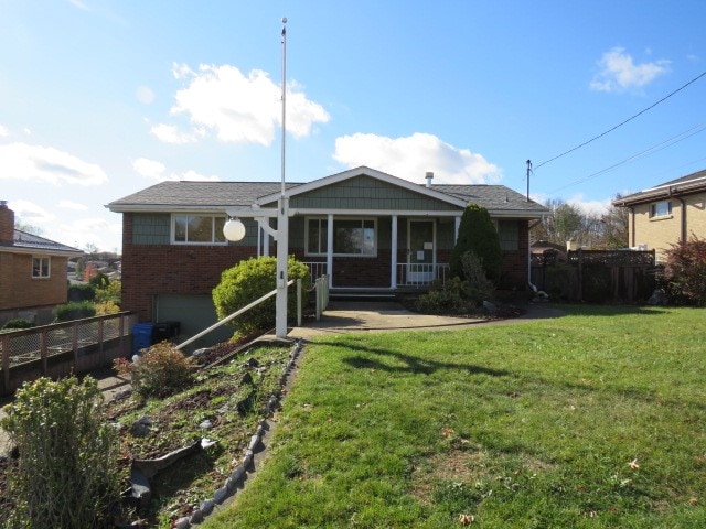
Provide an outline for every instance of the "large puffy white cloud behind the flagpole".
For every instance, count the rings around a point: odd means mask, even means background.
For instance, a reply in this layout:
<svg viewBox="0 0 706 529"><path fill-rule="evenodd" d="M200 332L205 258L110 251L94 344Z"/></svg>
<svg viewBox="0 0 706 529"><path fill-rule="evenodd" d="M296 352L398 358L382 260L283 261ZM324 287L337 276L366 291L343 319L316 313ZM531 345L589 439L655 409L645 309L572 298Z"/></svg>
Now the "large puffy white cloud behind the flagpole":
<svg viewBox="0 0 706 529"><path fill-rule="evenodd" d="M160 125L152 133L171 143L195 141L212 132L223 142L269 145L281 123L281 88L266 72L252 71L247 76L234 66L201 65L197 72L174 64L176 79L188 86L174 96L172 115L189 117L193 130ZM295 138L311 133L314 123L329 121L324 108L307 99L296 83L287 90L287 131Z"/></svg>

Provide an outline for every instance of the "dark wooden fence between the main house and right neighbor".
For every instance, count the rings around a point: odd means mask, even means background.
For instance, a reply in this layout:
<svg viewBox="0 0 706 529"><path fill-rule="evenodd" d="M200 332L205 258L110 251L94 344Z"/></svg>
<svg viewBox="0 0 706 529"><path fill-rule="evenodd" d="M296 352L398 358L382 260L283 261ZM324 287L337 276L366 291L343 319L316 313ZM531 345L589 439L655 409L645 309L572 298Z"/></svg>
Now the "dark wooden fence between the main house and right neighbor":
<svg viewBox="0 0 706 529"><path fill-rule="evenodd" d="M654 250L576 250L561 257L553 250L532 256L532 282L550 299L637 303L654 291Z"/></svg>

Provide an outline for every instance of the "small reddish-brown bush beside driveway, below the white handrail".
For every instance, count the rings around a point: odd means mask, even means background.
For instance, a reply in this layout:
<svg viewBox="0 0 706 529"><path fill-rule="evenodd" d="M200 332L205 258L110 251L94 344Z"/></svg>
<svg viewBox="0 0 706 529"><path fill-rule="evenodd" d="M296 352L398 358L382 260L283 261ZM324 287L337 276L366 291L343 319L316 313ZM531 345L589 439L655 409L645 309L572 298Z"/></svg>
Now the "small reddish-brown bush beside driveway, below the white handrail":
<svg viewBox="0 0 706 529"><path fill-rule="evenodd" d="M140 396L167 397L193 381L195 364L169 342L152 345L135 361L117 359L114 367L130 376L132 389Z"/></svg>

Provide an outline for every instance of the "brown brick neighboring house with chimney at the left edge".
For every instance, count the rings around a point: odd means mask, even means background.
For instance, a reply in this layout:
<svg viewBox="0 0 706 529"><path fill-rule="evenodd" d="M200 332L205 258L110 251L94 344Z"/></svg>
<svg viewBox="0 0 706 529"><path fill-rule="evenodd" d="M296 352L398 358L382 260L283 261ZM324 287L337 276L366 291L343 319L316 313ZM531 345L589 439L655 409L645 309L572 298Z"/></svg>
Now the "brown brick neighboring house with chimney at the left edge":
<svg viewBox="0 0 706 529"><path fill-rule="evenodd" d="M51 323L67 300L67 262L83 251L14 229L14 213L0 201L0 327L21 317Z"/></svg>

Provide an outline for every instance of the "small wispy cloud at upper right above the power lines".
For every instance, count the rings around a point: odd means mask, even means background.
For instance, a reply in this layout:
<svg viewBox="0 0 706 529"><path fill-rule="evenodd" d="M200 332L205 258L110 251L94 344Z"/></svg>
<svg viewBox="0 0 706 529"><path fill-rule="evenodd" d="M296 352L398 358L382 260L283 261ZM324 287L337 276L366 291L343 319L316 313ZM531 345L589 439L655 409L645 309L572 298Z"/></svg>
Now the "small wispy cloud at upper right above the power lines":
<svg viewBox="0 0 706 529"><path fill-rule="evenodd" d="M601 69L589 85L598 91L641 88L670 71L670 61L666 60L634 64L632 56L622 47L603 53L598 65Z"/></svg>

